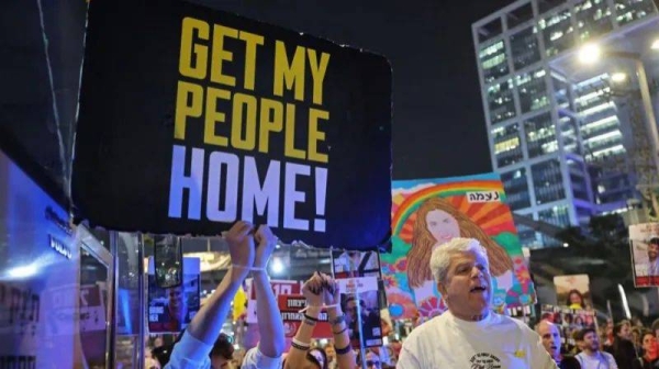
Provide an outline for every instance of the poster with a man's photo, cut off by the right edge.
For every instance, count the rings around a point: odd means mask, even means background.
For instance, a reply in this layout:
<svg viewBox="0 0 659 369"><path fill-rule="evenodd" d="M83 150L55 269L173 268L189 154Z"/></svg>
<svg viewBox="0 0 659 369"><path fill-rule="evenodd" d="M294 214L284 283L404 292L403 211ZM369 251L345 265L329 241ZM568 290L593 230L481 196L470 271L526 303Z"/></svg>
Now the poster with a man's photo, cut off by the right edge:
<svg viewBox="0 0 659 369"><path fill-rule="evenodd" d="M634 286L659 286L659 223L629 226Z"/></svg>

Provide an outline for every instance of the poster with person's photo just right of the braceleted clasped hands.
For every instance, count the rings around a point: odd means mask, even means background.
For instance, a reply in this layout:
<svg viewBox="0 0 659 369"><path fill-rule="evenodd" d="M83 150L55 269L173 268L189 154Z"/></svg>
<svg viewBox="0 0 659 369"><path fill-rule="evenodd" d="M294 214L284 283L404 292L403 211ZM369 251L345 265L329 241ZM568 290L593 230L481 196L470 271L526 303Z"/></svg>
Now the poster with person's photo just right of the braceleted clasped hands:
<svg viewBox="0 0 659 369"><path fill-rule="evenodd" d="M346 315L350 344L354 348L382 346L382 323L376 277L337 279L340 305ZM359 322L361 321L361 326ZM364 338L361 338L364 336Z"/></svg>

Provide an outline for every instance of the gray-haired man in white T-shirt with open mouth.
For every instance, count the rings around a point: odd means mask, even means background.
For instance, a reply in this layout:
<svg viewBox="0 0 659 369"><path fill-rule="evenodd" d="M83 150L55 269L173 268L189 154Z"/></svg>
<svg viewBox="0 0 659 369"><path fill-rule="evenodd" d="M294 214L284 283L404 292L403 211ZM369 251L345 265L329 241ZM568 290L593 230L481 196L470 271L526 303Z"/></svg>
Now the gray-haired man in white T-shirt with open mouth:
<svg viewBox="0 0 659 369"><path fill-rule="evenodd" d="M431 269L448 311L412 331L398 369L557 368L534 331L491 311L488 255L477 239L436 248Z"/></svg>

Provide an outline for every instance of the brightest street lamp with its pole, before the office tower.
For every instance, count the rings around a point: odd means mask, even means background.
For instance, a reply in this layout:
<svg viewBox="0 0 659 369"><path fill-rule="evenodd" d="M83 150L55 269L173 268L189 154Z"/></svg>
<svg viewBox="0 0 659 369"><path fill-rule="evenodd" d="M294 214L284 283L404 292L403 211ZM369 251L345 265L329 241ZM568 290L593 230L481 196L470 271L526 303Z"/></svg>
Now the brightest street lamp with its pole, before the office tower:
<svg viewBox="0 0 659 369"><path fill-rule="evenodd" d="M652 48L659 49L659 38L652 43ZM650 137L650 145L652 152L652 163L659 174L659 133L657 132L657 120L655 119L655 110L652 108L652 101L650 100L650 89L648 87L648 79L646 77L645 66L640 54L627 53L627 52L614 52L614 51L602 51L595 44L584 45L579 51L579 60L582 64L594 64L602 57L621 58L634 62L636 66L636 75L638 76L638 87L640 89L640 99L643 100L643 109L645 112L646 128ZM613 78L613 77L612 77ZM618 76L617 78L622 78ZM614 79L614 81L616 81Z"/></svg>

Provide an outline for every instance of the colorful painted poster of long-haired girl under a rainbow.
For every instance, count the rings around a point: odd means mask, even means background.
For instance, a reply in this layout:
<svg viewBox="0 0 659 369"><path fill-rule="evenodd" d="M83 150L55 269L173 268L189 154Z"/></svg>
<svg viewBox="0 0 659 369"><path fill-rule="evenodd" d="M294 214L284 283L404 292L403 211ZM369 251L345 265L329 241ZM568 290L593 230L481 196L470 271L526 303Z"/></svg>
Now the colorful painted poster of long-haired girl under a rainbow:
<svg viewBox="0 0 659 369"><path fill-rule="evenodd" d="M499 312L535 302L535 290L496 174L394 181L391 254L381 254L392 318L428 318L446 309L429 268L433 247L472 237L488 250Z"/></svg>

